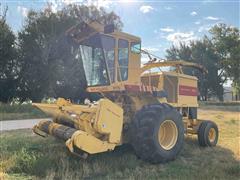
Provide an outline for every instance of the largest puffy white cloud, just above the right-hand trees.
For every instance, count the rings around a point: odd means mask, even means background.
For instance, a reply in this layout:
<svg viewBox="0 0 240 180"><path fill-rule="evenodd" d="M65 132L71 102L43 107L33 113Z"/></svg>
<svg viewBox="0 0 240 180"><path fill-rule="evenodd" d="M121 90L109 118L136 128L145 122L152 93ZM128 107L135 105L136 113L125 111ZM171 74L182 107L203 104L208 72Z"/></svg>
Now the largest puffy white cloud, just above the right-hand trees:
<svg viewBox="0 0 240 180"><path fill-rule="evenodd" d="M174 45L178 46L180 44L180 42L185 43L185 44L189 44L190 41L196 40L198 39L197 36L194 35L194 33L191 32L176 32L176 33L172 33L169 34L166 39L170 42L172 42Z"/></svg>

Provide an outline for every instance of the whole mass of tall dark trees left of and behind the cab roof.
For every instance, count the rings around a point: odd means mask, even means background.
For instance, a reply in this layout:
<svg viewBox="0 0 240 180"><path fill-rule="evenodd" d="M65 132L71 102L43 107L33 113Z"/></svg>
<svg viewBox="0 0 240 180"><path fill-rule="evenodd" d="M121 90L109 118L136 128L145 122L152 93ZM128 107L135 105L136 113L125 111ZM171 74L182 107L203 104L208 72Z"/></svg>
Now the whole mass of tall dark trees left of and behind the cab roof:
<svg viewBox="0 0 240 180"><path fill-rule="evenodd" d="M6 13L5 13L6 14ZM14 97L40 101L44 97L82 100L86 81L82 63L74 56L76 47L64 35L81 22L123 23L114 12L84 5L69 5L52 12L31 10L24 27L15 35L0 19L0 101Z"/></svg>

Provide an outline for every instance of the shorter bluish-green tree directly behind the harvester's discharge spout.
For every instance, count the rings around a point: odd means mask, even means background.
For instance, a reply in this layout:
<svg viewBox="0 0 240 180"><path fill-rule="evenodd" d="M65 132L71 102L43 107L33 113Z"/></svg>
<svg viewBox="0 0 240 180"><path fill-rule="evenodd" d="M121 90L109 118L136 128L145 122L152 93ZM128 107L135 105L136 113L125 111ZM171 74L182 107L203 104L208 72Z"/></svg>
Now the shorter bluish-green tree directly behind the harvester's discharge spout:
<svg viewBox="0 0 240 180"><path fill-rule="evenodd" d="M207 100L212 95L223 100L223 83L226 79L224 78L225 74L218 74L221 68L219 66L220 58L216 54L211 40L205 36L189 45L180 43L178 47L172 46L166 52L166 58L169 60L185 60L203 65L208 70L207 74L189 67L183 68L183 71L198 77L198 87L202 100Z"/></svg>

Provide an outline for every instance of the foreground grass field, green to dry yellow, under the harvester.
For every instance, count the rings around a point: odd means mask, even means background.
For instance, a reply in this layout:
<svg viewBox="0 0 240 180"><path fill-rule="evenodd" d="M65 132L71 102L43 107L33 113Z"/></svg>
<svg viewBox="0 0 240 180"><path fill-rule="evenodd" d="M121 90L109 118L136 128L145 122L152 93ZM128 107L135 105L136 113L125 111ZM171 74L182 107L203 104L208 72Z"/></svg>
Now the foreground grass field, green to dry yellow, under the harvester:
<svg viewBox="0 0 240 180"><path fill-rule="evenodd" d="M0 176L6 179L239 179L239 112L199 110L220 130L218 146L200 148L194 136L175 161L152 165L139 160L129 146L83 160L63 142L41 138L30 130L1 133ZM1 179L1 177L0 177Z"/></svg>

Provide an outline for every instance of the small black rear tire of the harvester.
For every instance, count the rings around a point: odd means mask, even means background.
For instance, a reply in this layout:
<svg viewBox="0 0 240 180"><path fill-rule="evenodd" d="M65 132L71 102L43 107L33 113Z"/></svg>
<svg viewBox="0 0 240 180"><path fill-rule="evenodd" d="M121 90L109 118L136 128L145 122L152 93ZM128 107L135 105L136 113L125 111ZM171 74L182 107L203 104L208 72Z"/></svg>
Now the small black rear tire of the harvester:
<svg viewBox="0 0 240 180"><path fill-rule="evenodd" d="M210 129L215 131L215 136L211 140L209 137ZM198 129L198 142L202 147L213 147L218 142L218 127L212 121L203 121Z"/></svg>

